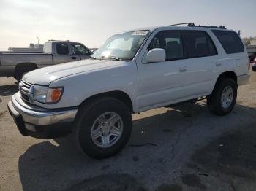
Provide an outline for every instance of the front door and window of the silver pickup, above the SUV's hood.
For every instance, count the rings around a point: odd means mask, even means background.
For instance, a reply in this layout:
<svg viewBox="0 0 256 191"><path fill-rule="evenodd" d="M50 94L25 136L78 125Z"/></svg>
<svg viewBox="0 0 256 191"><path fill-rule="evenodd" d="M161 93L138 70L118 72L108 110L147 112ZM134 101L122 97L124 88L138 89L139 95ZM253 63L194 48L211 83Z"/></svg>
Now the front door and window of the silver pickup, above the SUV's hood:
<svg viewBox="0 0 256 191"><path fill-rule="evenodd" d="M83 44L71 43L70 48L72 57L80 60L90 58L91 52Z"/></svg>

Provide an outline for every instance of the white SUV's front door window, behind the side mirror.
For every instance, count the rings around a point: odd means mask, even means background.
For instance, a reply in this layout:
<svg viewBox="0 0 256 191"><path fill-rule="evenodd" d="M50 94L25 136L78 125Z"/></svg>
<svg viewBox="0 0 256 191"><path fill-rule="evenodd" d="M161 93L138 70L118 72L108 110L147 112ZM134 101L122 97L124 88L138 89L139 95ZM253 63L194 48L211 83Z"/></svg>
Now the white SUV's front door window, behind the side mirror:
<svg viewBox="0 0 256 191"><path fill-rule="evenodd" d="M184 58L180 31L160 31L148 45L148 51L162 48L166 52L166 61Z"/></svg>

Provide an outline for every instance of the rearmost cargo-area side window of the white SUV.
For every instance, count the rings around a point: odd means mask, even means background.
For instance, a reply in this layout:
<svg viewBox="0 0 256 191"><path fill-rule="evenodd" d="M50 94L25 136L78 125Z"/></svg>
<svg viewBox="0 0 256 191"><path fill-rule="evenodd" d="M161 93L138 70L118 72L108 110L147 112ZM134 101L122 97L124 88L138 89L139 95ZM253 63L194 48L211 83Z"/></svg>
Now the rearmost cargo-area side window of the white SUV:
<svg viewBox="0 0 256 191"><path fill-rule="evenodd" d="M227 54L233 54L238 52L244 52L244 44L241 42L240 37L236 32L233 31L220 31L220 30L211 30L220 44L224 48Z"/></svg>

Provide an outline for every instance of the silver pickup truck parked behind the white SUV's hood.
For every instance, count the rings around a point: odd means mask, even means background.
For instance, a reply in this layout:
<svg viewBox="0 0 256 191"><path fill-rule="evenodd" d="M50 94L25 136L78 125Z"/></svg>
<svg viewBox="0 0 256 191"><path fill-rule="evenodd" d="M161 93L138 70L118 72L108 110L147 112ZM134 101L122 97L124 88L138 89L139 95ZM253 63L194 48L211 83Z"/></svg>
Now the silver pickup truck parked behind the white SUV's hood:
<svg viewBox="0 0 256 191"><path fill-rule="evenodd" d="M50 40L43 52L0 52L0 77L14 77L17 81L29 71L58 63L89 58L92 52L83 44Z"/></svg>

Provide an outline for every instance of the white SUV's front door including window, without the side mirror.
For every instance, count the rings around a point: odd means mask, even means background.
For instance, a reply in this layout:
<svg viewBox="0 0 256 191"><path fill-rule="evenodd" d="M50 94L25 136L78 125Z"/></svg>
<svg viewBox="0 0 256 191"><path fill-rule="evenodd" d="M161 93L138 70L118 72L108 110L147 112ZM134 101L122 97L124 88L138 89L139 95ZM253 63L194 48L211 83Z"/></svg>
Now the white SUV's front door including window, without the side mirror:
<svg viewBox="0 0 256 191"><path fill-rule="evenodd" d="M147 52L162 48L166 61L138 63L138 106L143 111L187 96L187 63L181 31L159 31L147 47ZM146 55L146 54L145 54Z"/></svg>

